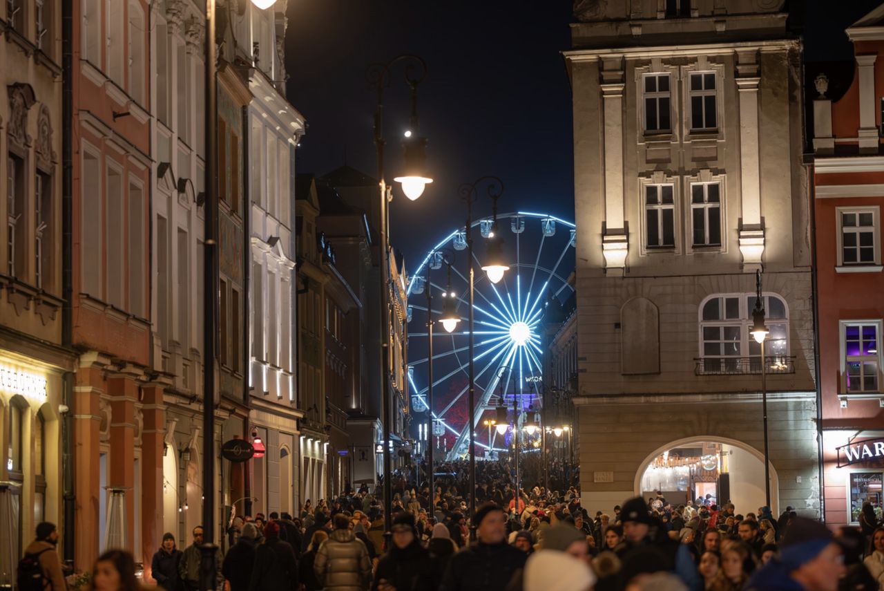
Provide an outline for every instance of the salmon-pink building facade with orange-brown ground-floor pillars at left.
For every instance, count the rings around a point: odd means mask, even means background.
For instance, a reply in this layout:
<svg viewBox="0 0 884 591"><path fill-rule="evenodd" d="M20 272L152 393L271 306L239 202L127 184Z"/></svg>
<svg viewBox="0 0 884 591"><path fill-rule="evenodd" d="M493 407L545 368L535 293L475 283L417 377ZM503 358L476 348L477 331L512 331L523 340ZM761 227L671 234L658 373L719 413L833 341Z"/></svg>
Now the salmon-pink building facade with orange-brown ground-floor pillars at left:
<svg viewBox="0 0 884 591"><path fill-rule="evenodd" d="M160 542L163 387L149 310L149 3L72 6L75 567ZM149 555L148 555L149 556Z"/></svg>

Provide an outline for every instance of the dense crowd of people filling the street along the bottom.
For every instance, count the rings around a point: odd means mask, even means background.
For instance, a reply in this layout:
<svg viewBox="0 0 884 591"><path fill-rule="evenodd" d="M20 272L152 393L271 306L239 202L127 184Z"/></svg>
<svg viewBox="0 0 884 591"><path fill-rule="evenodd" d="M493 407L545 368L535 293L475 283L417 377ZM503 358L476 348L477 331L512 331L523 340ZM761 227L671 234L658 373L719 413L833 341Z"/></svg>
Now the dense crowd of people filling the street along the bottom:
<svg viewBox="0 0 884 591"><path fill-rule="evenodd" d="M871 504L860 527L834 532L792 507L779 517L768 507L740 514L732 503L674 505L659 493L589 515L574 487L517 495L506 466L482 466L472 515L457 475L432 494L392 480L387 537L379 488L307 502L295 516L235 518L213 583L223 591L884 591L884 526ZM41 526L28 551L50 550L39 556L43 588L57 591L57 532ZM202 527L192 535L184 550L164 535L150 569L157 587L200 588ZM132 556L111 550L89 588L143 588L133 573Z"/></svg>

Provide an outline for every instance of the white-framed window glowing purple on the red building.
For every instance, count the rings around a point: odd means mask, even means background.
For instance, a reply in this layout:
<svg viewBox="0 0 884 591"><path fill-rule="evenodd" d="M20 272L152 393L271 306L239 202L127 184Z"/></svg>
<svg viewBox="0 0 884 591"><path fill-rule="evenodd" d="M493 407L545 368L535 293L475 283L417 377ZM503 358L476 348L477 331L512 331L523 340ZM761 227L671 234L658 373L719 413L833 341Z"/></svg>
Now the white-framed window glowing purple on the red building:
<svg viewBox="0 0 884 591"><path fill-rule="evenodd" d="M841 322L843 392L880 391L880 320Z"/></svg>

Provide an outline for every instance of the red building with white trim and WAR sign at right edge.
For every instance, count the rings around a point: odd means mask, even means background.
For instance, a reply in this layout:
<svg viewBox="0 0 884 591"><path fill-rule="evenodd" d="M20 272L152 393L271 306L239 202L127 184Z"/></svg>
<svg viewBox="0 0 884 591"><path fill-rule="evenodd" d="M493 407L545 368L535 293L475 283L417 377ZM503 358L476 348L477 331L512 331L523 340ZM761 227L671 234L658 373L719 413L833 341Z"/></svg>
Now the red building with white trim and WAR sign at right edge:
<svg viewBox="0 0 884 591"><path fill-rule="evenodd" d="M873 503L880 518L884 501L882 24L884 6L848 28L856 56L844 68L847 75L824 70L813 81L810 172L824 502L830 525L856 525L865 502ZM849 82L839 87L839 78Z"/></svg>

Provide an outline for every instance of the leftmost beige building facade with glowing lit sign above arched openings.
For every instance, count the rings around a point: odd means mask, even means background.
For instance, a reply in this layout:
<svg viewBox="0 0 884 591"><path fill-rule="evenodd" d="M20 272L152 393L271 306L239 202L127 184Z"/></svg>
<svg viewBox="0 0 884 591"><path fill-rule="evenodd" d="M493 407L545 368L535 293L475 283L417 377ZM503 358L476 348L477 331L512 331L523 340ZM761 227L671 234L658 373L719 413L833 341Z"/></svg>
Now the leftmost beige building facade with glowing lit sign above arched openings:
<svg viewBox="0 0 884 591"><path fill-rule="evenodd" d="M63 336L61 8L0 9L0 514L9 519L0 586L14 584L37 523L62 524L70 470L62 452L75 356Z"/></svg>

